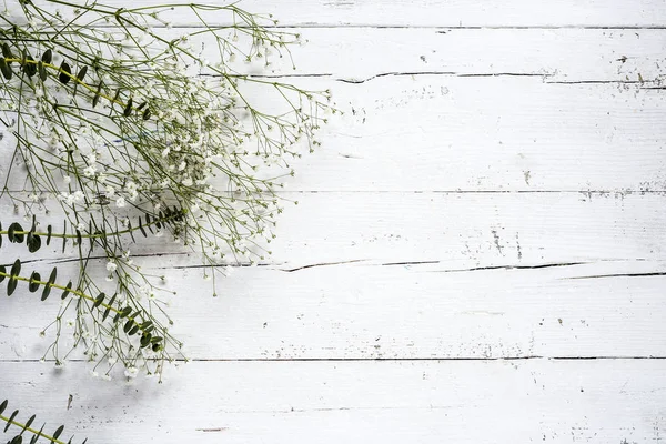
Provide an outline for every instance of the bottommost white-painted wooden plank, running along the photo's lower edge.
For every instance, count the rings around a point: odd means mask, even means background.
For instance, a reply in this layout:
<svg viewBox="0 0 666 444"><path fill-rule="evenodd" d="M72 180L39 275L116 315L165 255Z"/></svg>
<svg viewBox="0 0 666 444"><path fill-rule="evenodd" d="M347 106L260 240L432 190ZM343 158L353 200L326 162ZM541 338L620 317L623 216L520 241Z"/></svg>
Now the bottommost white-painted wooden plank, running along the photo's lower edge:
<svg viewBox="0 0 666 444"><path fill-rule="evenodd" d="M652 443L666 425L656 360L200 362L160 386L81 384L80 364L0 372L22 418L90 442Z"/></svg>

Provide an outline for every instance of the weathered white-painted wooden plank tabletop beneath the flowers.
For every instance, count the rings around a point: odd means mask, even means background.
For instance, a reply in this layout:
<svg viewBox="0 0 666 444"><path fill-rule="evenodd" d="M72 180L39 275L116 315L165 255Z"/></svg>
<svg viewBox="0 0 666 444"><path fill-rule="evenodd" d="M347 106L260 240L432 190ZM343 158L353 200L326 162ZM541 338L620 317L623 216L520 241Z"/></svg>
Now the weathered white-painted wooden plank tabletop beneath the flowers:
<svg viewBox="0 0 666 444"><path fill-rule="evenodd" d="M666 442L666 1L242 4L347 111L274 258L213 300L155 242L161 385L40 363L56 305L0 299L0 397L91 443Z"/></svg>

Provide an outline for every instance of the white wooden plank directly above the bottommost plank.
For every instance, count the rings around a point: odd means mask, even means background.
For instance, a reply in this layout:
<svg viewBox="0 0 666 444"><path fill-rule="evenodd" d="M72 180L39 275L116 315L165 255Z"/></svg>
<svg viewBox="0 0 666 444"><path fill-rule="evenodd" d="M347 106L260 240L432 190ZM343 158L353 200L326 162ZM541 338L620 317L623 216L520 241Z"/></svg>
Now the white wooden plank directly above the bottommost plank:
<svg viewBox="0 0 666 444"><path fill-rule="evenodd" d="M153 259L153 268L160 262ZM73 266L59 270L67 275ZM167 299L168 311L185 355L666 357L666 261L470 270L442 263L353 263L286 270L242 268L218 282L219 297L212 297L200 269L157 270L178 292ZM54 332L47 337L39 332L53 321L58 305L57 300L39 303L23 287L0 299L0 361L42 357Z"/></svg>

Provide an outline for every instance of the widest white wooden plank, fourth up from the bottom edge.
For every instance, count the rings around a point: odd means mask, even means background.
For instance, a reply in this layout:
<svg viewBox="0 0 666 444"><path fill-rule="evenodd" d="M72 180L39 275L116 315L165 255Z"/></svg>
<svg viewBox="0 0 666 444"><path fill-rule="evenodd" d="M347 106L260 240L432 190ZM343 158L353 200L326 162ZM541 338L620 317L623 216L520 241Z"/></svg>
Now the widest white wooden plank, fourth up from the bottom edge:
<svg viewBox="0 0 666 444"><path fill-rule="evenodd" d="M666 189L662 90L548 84L534 77L292 80L331 88L346 113L322 130L322 149L293 162L290 190ZM249 95L274 105L261 91ZM0 164L0 176L6 169Z"/></svg>

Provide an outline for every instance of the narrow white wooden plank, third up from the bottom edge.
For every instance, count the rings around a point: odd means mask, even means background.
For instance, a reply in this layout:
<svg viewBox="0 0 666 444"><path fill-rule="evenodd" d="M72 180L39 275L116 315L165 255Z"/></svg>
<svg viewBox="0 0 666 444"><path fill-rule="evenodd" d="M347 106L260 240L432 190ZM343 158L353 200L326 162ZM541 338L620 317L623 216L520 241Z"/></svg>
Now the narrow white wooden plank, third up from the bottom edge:
<svg viewBox="0 0 666 444"><path fill-rule="evenodd" d="M278 218L272 256L287 269L365 261L438 261L443 266L538 265L664 260L664 193L286 193L299 201ZM9 209L3 206L3 214ZM62 224L56 212L42 224ZM133 254L186 252L168 238L138 238ZM8 245L11 246L11 245ZM4 248L4 246L3 246ZM24 252L13 245L10 252ZM71 249L71 246L70 246ZM31 258L62 260L57 242ZM200 263L195 253L162 258ZM232 262L233 263L233 262Z"/></svg>

